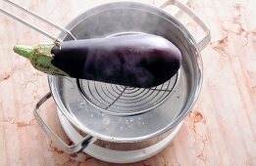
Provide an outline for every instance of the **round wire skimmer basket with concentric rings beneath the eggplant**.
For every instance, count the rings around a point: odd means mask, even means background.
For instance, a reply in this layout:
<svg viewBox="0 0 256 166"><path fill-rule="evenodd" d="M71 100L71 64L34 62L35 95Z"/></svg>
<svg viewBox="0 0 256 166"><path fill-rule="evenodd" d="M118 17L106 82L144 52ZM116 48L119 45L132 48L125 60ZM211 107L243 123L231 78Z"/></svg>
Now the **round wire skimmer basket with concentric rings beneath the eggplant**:
<svg viewBox="0 0 256 166"><path fill-rule="evenodd" d="M113 115L135 115L154 109L171 95L179 73L166 83L150 88L133 88L88 80L77 80L84 99L100 110Z"/></svg>

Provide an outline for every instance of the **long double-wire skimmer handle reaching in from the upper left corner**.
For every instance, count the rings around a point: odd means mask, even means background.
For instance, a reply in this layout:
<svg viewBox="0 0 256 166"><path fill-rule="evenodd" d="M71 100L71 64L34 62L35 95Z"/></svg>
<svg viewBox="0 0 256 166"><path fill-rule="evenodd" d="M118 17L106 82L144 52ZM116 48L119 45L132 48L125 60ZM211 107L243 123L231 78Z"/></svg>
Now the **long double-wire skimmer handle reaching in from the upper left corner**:
<svg viewBox="0 0 256 166"><path fill-rule="evenodd" d="M69 30L67 30L67 29L65 29L65 28L63 28L63 27L53 23L52 21L48 21L48 20L46 20L46 19L36 15L35 13L32 13L31 11L27 10L26 8L24 8L23 6L15 3L15 2L13 2L11 0L4 0L4 1L9 3L10 5L16 7L17 9L20 9L20 10L24 11L26 14L36 18L37 20L43 21L43 22L47 23L48 25L51 25L52 27L55 27L55 28L61 30L62 32L70 35L74 40L76 40L76 37ZM33 24L31 24L31 23L29 23L29 22L27 22L27 21L25 21L25 20L23 20L23 19L21 19L21 18L19 18L17 16L15 16L14 14L11 14L10 12L8 12L8 11L6 11L4 9L0 8L0 12L2 12L3 14L5 14L5 15L11 17L11 18L13 18L16 21L20 21L20 22L24 23L26 26L36 30L37 32L43 34L44 36L46 36L46 37L48 37L48 38L50 38L52 40L59 40L59 41L61 41L56 36L53 36L53 35L47 33L46 31L42 30L41 28L39 28L39 27L37 27L37 26L35 26L35 25L33 25Z"/></svg>

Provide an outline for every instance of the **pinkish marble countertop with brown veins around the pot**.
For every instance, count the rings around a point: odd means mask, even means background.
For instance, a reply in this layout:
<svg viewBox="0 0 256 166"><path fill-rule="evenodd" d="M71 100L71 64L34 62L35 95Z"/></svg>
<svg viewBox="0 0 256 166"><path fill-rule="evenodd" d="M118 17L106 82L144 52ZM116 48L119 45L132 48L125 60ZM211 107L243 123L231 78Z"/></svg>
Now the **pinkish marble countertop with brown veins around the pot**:
<svg viewBox="0 0 256 166"><path fill-rule="evenodd" d="M16 2L64 26L106 1ZM158 6L161 1L139 2ZM201 52L204 78L199 100L171 145L149 159L127 165L256 165L256 1L191 0L187 6L205 21L212 36ZM59 33L3 1L0 8L56 36ZM200 37L195 22L183 14L179 19L195 38ZM0 165L114 165L66 154L46 137L34 119L33 107L49 91L47 75L33 69L12 48L51 40L1 13L0 22ZM55 104L49 106L44 118L68 140Z"/></svg>

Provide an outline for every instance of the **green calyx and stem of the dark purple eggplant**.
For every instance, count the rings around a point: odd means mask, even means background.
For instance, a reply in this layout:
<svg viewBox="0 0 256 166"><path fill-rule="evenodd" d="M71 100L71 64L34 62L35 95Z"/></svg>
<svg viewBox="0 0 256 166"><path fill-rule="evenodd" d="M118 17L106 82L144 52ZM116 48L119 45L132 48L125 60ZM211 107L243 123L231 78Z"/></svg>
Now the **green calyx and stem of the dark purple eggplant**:
<svg viewBox="0 0 256 166"><path fill-rule="evenodd" d="M14 52L28 59L37 70L48 74L69 76L65 71L52 64L54 55L51 54L55 44L39 44L35 47L17 45Z"/></svg>

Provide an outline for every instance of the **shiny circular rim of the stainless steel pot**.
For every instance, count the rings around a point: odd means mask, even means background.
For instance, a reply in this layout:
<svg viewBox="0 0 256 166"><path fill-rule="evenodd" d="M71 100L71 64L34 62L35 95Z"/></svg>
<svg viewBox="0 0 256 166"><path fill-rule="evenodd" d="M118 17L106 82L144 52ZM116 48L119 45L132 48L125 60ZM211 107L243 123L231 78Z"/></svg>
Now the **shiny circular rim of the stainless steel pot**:
<svg viewBox="0 0 256 166"><path fill-rule="evenodd" d="M56 91L54 91L54 87L52 86L52 82L53 82L53 78L55 76L53 75L48 75L48 83L49 83L49 88L50 88L50 91L52 93L52 96L53 96L53 99L55 101L55 103L57 104L58 108L62 111L62 113L68 118L68 120L77 127L77 129L79 129L80 131L90 135L90 136L93 136L97 139L100 139L100 140L104 140L104 141L109 141L109 142L116 142L116 143L133 143L133 142L141 142L141 141L146 141L146 140L149 140L151 138L154 138L154 137L157 137L157 136L160 136L164 133L166 133L167 131L171 130L172 128L176 127L183 119L184 117L186 117L186 115L189 113L189 111L191 110L191 108L194 106L194 104L196 103L196 101L198 100L198 97L199 97L199 94L200 94L200 91L201 91L201 88L202 88L202 82L203 82L203 62L202 62L202 57L200 55L200 51L199 51L199 48L197 47L197 44L194 40L194 38L192 37L192 35L188 32L188 30L177 20L175 19L172 15L170 15L169 13L163 11L162 9L158 8L158 7L155 7L155 6L152 6L152 5L147 5L147 4L142 4L142 3L138 3L138 2L112 2L112 3L106 3L106 4L103 4L103 5L100 5L100 6L96 6L92 9L89 9L87 11L85 11L84 13L80 14L77 16L77 18L75 18L73 21L71 21L67 26L66 28L67 29L73 29L80 21L83 21L84 19L86 18L83 18L83 15L85 15L86 13L88 12L93 12L94 10L97 10L98 8L104 8L104 9L108 9L108 6L113 6L113 5L117 5L117 9L122 7L127 7L127 5L133 5L132 7L134 6L143 6L143 7L146 7L148 9L151 8L151 10L157 10L158 12L161 12L163 14L165 14L166 17L168 18L172 18L173 20L176 21L176 23L179 25L179 30L183 33L184 36L187 36L187 41L188 43L194 47L195 49L195 56L196 56L196 62L197 62L197 69L198 71L196 72L197 74L197 79L195 79L195 84L196 84L196 90L194 91L193 94L191 94L191 97L189 98L189 100L186 102L184 108L180 111L179 115L173 120L173 122L171 123L171 125L155 132L155 133L152 133L150 135L146 135L146 136L142 136L142 137L138 137L138 138L135 138L135 139L132 139L130 140L129 138L112 138L112 137L109 137L109 136L104 136L102 137L102 135L99 135L97 133L93 133L91 131L87 131L86 129L84 129L85 127L83 125L81 125L77 119L75 119L70 113L68 113L69 111L67 110L67 108L63 105L60 104L60 99L57 99L56 96ZM128 7L127 7L128 8ZM116 8L115 8L116 9ZM113 8L109 9L109 10L113 10ZM103 10L105 11L105 10ZM101 11L101 12L103 12ZM92 15L95 15L92 14ZM90 15L90 16L92 16ZM159 15L158 15L159 16ZM164 18L163 16L159 16L159 17L162 17L163 19L166 19ZM167 19L166 19L167 20ZM181 27L181 28L180 28ZM61 38L64 38L65 37L65 33L61 33L60 34L60 37Z"/></svg>

